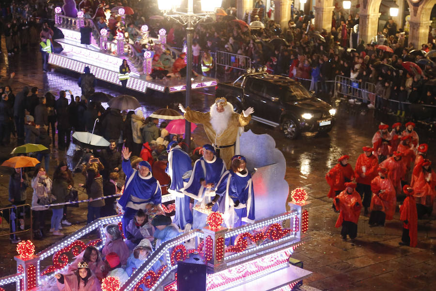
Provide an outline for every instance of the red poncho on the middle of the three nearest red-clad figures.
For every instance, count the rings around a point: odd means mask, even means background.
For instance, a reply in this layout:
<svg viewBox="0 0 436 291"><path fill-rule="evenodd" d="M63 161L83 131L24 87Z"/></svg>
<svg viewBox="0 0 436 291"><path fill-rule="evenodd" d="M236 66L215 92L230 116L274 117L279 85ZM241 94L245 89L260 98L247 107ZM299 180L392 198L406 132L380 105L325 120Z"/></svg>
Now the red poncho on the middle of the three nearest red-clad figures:
<svg viewBox="0 0 436 291"><path fill-rule="evenodd" d="M392 220L397 206L395 188L388 178L375 177L371 181L371 210L380 210L386 213L386 220Z"/></svg>

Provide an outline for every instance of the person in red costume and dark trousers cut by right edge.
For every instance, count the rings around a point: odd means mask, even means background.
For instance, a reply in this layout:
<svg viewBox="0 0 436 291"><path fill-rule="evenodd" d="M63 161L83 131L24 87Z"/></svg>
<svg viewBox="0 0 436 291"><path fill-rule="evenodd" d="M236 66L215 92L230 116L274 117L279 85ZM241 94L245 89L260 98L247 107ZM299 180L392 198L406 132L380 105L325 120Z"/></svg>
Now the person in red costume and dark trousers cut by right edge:
<svg viewBox="0 0 436 291"><path fill-rule="evenodd" d="M413 169L413 175L416 179L412 187L419 219L425 214L430 216L433 211L433 201L436 197L436 174L432 170L431 164L430 160L424 159Z"/></svg>

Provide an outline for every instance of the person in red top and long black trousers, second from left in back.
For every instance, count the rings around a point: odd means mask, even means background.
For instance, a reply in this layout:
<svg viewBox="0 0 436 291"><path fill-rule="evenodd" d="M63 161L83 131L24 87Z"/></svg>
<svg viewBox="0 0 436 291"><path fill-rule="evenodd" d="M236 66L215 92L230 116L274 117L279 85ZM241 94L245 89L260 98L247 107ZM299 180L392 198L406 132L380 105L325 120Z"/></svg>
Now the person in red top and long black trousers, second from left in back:
<svg viewBox="0 0 436 291"><path fill-rule="evenodd" d="M374 148L369 146L362 147L363 154L360 154L354 168L357 187L356 191L363 199L364 214L368 214L368 207L371 203L371 181L377 176L378 162L373 155Z"/></svg>

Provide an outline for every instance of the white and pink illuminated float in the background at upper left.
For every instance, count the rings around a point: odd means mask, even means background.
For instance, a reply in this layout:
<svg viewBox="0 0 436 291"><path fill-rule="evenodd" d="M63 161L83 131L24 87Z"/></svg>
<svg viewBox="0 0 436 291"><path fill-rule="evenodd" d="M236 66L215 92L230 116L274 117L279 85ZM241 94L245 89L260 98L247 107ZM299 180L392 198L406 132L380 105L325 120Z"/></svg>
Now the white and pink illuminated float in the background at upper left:
<svg viewBox="0 0 436 291"><path fill-rule="evenodd" d="M90 44L80 43L80 28L89 23L92 30L90 34ZM119 67L125 59L130 67L130 76L126 87L138 92L146 92L147 89L165 93L175 93L186 91L186 77L181 78L170 73L171 78L153 79L152 72L153 53L146 51L138 52L131 43L126 42L128 37L117 35L113 41L108 41L106 30L99 31L93 21L83 17L63 16L62 11L55 15L55 27L62 34L62 38L54 39L61 47L62 51L55 48L48 56L48 64L61 67L77 73L83 73L85 66L89 66L91 73L96 79L112 84L120 85ZM166 32L161 30L159 38L148 36L148 27L142 26L140 43L154 46L162 46L170 49L173 57L177 57L178 51L165 44ZM171 70L171 68L170 68ZM199 74L193 76L191 88L200 89L217 85L217 80Z"/></svg>

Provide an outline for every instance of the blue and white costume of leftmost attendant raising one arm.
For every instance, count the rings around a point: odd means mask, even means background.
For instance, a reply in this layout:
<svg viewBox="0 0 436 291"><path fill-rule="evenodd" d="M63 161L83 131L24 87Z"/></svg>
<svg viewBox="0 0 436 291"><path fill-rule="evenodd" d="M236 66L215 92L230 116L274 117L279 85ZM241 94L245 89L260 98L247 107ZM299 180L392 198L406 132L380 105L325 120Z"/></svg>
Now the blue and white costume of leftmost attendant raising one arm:
<svg viewBox="0 0 436 291"><path fill-rule="evenodd" d="M125 211L122 219L124 233L126 233L126 226L138 210L145 210L147 204L160 205L162 202L160 185L152 175L150 164L142 161L140 165L149 168L150 173L147 177L140 176L139 172L130 165L130 160L123 159L122 167L126 183L117 205Z"/></svg>

